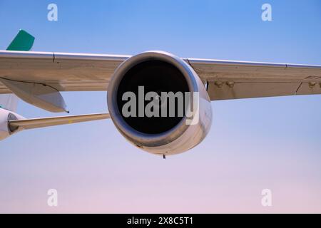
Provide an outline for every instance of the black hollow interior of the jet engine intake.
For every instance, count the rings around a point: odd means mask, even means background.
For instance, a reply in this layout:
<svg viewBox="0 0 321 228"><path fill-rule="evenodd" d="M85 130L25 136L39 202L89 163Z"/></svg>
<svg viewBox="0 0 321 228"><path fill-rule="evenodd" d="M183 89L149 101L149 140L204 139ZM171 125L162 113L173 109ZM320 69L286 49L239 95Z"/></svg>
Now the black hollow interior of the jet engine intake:
<svg viewBox="0 0 321 228"><path fill-rule="evenodd" d="M118 110L121 113L123 120L131 126L131 128L146 134L159 134L164 133L175 125L180 123L183 119L182 116L178 116L178 100L175 100L175 116L170 117L167 113L167 117L138 117L138 86L144 86L144 95L150 91L154 91L161 96L161 92L173 92L178 91L185 92L189 91L188 82L186 81L183 73L178 68L170 63L164 61L144 61L133 66L121 79L117 90L117 105ZM128 100L122 100L123 93L131 91L136 95L136 117L125 117L122 113L123 105ZM144 99L145 100L145 99ZM150 100L145 100L144 107ZM161 101L161 99L159 100ZM167 112L169 102L167 102ZM185 110L185 107L184 107Z"/></svg>

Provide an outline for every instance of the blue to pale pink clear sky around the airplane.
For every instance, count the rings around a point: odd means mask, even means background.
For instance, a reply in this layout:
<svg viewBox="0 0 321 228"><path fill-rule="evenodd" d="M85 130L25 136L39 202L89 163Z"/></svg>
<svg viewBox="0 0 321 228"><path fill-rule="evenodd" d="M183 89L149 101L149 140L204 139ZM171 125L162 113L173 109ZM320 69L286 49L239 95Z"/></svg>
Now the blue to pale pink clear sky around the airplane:
<svg viewBox="0 0 321 228"><path fill-rule="evenodd" d="M51 3L58 21L47 19ZM272 21L261 18L265 3ZM33 51L321 65L319 0L0 0L0 49L20 28L36 37ZM63 97L71 115L108 110L106 92ZM207 138L166 160L133 147L111 120L24 131L0 142L0 212L321 213L320 101L215 101ZM18 113L57 115L23 101Z"/></svg>

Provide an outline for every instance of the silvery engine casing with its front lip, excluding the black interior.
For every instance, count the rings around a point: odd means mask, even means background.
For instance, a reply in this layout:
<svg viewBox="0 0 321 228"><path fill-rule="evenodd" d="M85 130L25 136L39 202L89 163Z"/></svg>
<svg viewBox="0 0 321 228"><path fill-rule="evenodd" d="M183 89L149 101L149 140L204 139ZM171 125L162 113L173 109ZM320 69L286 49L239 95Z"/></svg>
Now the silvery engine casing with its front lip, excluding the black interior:
<svg viewBox="0 0 321 228"><path fill-rule="evenodd" d="M200 121L198 124L187 125L186 117L184 117L180 120L180 123L171 130L160 134L146 134L134 130L125 122L125 120L123 120L116 100L119 83L126 72L133 68L133 66L144 61L152 60L164 61L178 68L185 77L185 80L188 82L190 92L198 92L200 94L200 105L198 107ZM113 123L116 125L119 132L134 145L154 154L173 155L185 152L201 142L210 129L212 118L210 99L208 98L208 93L205 91L203 83L188 63L170 53L162 51L148 51L128 58L128 60L123 62L113 74L113 78L111 78L111 82L108 87L107 100L109 113L111 114ZM193 103L193 100L191 103Z"/></svg>

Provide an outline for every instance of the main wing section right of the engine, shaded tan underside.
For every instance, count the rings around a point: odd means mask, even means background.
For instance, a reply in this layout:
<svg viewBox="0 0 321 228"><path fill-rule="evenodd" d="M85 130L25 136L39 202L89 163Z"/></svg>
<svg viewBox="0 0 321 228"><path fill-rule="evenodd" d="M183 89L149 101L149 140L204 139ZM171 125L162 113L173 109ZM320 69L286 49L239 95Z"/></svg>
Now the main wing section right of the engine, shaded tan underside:
<svg viewBox="0 0 321 228"><path fill-rule="evenodd" d="M211 100L321 93L321 66L188 59Z"/></svg>

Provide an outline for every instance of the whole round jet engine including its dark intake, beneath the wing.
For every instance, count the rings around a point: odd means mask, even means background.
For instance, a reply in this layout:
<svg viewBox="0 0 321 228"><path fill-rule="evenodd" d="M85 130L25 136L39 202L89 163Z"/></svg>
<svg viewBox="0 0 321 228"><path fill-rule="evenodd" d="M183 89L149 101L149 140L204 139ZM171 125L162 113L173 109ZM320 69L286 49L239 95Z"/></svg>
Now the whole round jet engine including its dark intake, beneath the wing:
<svg viewBox="0 0 321 228"><path fill-rule="evenodd" d="M188 63L170 53L148 51L128 58L113 73L107 100L119 132L156 155L185 152L210 130L205 86Z"/></svg>

